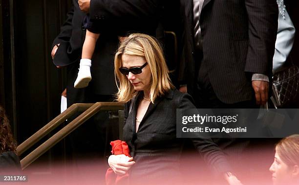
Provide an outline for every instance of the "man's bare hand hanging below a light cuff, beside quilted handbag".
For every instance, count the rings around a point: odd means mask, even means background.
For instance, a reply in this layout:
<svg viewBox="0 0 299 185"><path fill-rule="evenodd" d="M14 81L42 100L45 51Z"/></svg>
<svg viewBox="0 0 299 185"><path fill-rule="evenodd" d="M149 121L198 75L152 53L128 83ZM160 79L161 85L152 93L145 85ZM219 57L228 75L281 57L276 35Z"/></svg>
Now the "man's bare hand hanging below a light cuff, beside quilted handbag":
<svg viewBox="0 0 299 185"><path fill-rule="evenodd" d="M254 80L252 87L256 93L256 104L265 105L268 101L269 82Z"/></svg>

